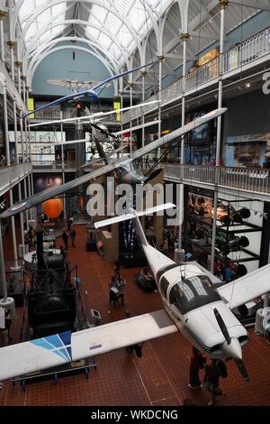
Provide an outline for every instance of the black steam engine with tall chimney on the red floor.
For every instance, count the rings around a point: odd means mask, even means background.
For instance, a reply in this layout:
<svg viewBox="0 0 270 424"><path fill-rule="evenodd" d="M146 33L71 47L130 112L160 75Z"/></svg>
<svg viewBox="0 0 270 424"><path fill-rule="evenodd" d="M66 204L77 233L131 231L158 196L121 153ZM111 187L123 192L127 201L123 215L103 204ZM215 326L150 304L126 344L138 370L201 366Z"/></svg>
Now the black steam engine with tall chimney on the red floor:
<svg viewBox="0 0 270 424"><path fill-rule="evenodd" d="M37 230L36 263L31 265L28 318L34 338L75 329L76 287L65 255L43 252L43 233Z"/></svg>

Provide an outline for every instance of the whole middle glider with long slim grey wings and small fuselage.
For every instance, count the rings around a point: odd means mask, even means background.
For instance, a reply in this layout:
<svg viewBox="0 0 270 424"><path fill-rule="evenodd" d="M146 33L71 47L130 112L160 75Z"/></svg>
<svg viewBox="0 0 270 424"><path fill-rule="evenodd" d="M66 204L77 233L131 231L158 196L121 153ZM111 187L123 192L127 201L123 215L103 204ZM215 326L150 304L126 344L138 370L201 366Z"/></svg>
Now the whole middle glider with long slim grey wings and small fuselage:
<svg viewBox="0 0 270 424"><path fill-rule="evenodd" d="M85 182L94 180L111 171L116 171L118 178L121 179L121 182L128 184L144 184L149 180L149 178L153 178L153 175L151 177L145 176L143 172L140 171L139 164L137 162L139 158L145 154L148 154L149 152L158 149L166 143L172 142L177 137L184 136L184 134L193 131L194 128L197 128L198 126L211 121L211 119L224 114L226 110L226 107L221 107L220 109L215 109L206 115L202 115L196 118L194 121L185 124L184 126L177 128L175 131L172 131L171 133L157 139L155 142L148 143L146 146L130 154L130 158L113 159L109 161L107 165L103 166L103 168L85 173L85 175L77 178L76 180L71 180L60 186L45 189L44 191L31 196L31 198L25 198L22 202L6 209L0 215L0 218L12 217L23 212L23 210L34 207L44 202L45 200L48 200L49 198L54 198L62 193L65 193L69 189L75 189L76 187L85 184Z"/></svg>

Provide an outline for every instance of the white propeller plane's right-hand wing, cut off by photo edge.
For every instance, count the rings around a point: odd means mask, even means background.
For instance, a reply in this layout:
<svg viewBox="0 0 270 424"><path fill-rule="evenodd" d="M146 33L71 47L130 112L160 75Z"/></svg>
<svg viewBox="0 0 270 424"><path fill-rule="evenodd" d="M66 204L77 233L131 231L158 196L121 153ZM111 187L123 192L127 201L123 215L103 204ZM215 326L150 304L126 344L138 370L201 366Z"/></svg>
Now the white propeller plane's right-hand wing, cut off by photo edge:
<svg viewBox="0 0 270 424"><path fill-rule="evenodd" d="M256 299L270 291L270 263L217 290L229 309L238 308L249 300Z"/></svg>

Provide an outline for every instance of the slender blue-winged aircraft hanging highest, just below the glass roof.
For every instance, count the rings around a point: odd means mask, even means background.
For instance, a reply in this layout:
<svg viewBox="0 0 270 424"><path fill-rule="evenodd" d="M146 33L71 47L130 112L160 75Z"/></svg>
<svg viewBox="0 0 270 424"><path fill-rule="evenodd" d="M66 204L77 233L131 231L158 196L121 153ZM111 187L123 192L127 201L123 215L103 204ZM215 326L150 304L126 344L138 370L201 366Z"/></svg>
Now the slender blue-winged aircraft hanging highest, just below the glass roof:
<svg viewBox="0 0 270 424"><path fill-rule="evenodd" d="M50 107L50 106L58 105L58 103L66 102L67 100L71 100L71 99L76 100L76 99L79 99L79 98L85 97L85 96L90 96L90 97L93 97L93 98L97 98L98 97L98 94L95 92L95 90L97 88L100 88L102 86L107 85L113 79L121 78L124 75L128 75L128 74L130 74L132 72L135 72L136 70L139 70L139 69L142 69L142 68L147 68L150 65L154 65L155 63L157 63L157 61L158 60L155 60L153 62L145 63L144 65L140 65L140 66L138 66L136 68L125 70L124 72L121 72L120 74L113 75L112 77L106 78L103 81L98 82L91 89L87 89L85 91L79 91L78 93L72 93L72 94L68 94L67 96L60 97L60 98L58 98L56 100L53 100L52 102L48 103L47 105L37 107L37 109L32 110L31 112L28 112L27 114L23 115L22 117L25 118L28 115L35 114L36 112L39 112L40 110L47 109L47 107Z"/></svg>

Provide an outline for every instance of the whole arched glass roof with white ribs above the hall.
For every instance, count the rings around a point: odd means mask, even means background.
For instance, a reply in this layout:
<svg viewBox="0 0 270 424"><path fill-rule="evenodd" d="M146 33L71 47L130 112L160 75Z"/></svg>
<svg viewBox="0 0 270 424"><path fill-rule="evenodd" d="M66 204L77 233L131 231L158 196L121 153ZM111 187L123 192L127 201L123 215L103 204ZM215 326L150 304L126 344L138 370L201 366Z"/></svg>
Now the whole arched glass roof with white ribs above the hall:
<svg viewBox="0 0 270 424"><path fill-rule="evenodd" d="M225 32L261 9L270 10L267 2L230 0ZM12 13L21 60L26 68L31 62L30 69L40 54L48 55L59 41L68 44L77 39L105 60L113 73L162 53L165 76L181 65L179 32L191 34L188 60L220 38L218 0L14 0Z"/></svg>

